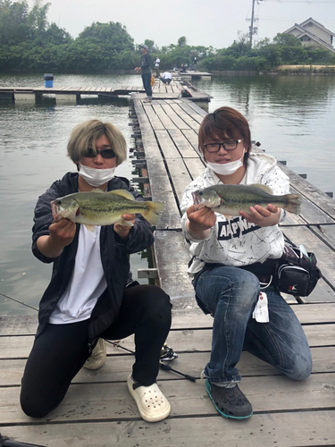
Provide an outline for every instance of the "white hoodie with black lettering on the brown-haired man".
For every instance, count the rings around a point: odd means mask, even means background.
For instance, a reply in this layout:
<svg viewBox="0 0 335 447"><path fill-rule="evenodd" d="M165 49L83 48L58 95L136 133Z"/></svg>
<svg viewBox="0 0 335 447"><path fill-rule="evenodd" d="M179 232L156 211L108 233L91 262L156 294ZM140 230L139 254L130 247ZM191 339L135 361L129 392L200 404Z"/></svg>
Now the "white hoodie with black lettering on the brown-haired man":
<svg viewBox="0 0 335 447"><path fill-rule="evenodd" d="M191 242L189 250L193 261L188 273L196 274L205 263L221 263L224 266L247 266L263 263L267 258L281 257L284 237L278 225L259 227L248 223L242 216L227 219L215 213L216 223L205 240L196 240L188 234L185 225L188 220L186 210L193 205L192 191L222 183L208 166L205 172L189 183L181 201L181 225L185 238ZM273 194L289 193L289 177L281 171L276 159L264 153L250 153L246 173L240 184L260 183L269 186ZM285 211L281 210L281 221Z"/></svg>

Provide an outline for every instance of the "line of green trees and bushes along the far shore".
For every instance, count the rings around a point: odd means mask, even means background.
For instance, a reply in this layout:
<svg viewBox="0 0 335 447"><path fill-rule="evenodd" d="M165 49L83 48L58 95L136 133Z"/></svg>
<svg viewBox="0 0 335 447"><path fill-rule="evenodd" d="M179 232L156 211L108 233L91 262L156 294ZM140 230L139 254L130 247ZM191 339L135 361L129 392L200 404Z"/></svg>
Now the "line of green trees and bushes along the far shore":
<svg viewBox="0 0 335 447"><path fill-rule="evenodd" d="M153 40L135 44L127 28L119 22L93 22L78 36L47 21L50 4L36 0L29 9L26 1L0 0L1 72L106 72L132 70L138 66L139 48L149 47L161 59L161 70L181 63L205 71L266 72L281 64L332 64L335 55L315 46L302 46L289 34L278 34L250 47L247 35L240 35L227 48L189 46L185 37L176 44L156 46ZM153 57L153 59L154 59Z"/></svg>

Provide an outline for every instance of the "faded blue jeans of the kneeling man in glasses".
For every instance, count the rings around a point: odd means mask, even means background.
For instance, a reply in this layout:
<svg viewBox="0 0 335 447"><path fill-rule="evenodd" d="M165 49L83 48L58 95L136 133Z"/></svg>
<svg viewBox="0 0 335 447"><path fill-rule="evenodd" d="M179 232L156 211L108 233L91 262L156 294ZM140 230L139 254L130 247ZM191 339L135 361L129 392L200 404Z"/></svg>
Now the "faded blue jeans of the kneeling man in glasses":
<svg viewBox="0 0 335 447"><path fill-rule="evenodd" d="M263 290L270 322L257 323L252 317L260 291L255 274L209 265L195 276L193 284L200 308L214 315L211 358L205 367L210 382L240 382L236 365L242 349L293 380L311 374L312 357L304 330L275 287Z"/></svg>

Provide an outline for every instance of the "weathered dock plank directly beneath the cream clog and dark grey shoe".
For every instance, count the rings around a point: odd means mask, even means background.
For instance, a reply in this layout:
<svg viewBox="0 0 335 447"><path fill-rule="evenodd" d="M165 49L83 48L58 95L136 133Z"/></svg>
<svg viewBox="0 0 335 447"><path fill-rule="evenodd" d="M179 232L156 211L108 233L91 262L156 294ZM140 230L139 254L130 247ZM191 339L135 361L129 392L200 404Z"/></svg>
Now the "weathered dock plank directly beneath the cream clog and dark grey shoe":
<svg viewBox="0 0 335 447"><path fill-rule="evenodd" d="M241 386L252 402L255 412L333 409L335 387L332 374L311 375L308 380L292 381L284 375L244 377ZM259 386L259 384L262 386ZM204 399L204 381L159 381L159 386L171 403L171 417L216 416L209 398ZM2 425L31 424L20 407L20 387L4 387L0 394ZM289 399L288 399L289 395ZM131 420L138 417L136 403L126 384L72 384L64 401L38 422L59 424L66 421L96 421L102 419Z"/></svg>

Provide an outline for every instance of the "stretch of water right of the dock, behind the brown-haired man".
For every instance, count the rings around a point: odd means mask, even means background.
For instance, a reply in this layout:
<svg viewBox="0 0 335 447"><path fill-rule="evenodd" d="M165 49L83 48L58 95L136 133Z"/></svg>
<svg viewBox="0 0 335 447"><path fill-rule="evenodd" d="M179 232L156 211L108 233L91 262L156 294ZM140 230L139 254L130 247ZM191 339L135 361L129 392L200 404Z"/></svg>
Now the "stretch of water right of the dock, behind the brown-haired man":
<svg viewBox="0 0 335 447"><path fill-rule="evenodd" d="M230 105L245 114L252 138L323 191L335 192L334 76L256 76L194 81L210 93L209 112Z"/></svg>

